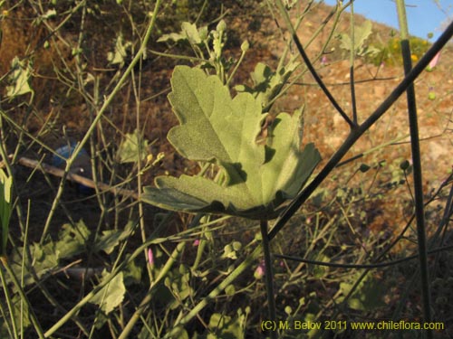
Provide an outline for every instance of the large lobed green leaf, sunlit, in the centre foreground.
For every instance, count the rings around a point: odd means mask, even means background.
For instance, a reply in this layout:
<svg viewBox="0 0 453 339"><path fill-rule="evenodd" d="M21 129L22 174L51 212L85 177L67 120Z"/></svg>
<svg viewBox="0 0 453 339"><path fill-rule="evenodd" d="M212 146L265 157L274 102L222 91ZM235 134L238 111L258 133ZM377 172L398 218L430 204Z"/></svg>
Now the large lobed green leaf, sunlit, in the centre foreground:
<svg viewBox="0 0 453 339"><path fill-rule="evenodd" d="M159 176L145 187L145 202L183 212L213 212L252 219L274 218L278 207L300 191L320 161L312 144L300 149L301 111L279 114L266 145L256 142L266 114L249 93L231 99L216 76L178 66L169 101L180 125L169 131L178 153L220 166L224 184L201 176Z"/></svg>

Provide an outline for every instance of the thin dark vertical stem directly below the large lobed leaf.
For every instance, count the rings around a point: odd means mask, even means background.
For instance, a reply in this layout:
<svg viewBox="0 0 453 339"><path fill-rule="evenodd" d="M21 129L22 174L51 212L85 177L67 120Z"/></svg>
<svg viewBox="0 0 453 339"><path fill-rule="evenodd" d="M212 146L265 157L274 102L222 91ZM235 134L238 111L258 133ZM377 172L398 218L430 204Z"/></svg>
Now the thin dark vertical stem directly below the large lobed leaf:
<svg viewBox="0 0 453 339"><path fill-rule="evenodd" d="M263 253L265 255L265 287L267 291L267 308L269 310L269 320L275 324L277 319L275 311L275 297L274 297L274 273L272 270L271 247L269 243L269 236L267 234L267 221L260 221L261 237L263 243ZM273 339L277 338L277 331L272 331L271 336Z"/></svg>

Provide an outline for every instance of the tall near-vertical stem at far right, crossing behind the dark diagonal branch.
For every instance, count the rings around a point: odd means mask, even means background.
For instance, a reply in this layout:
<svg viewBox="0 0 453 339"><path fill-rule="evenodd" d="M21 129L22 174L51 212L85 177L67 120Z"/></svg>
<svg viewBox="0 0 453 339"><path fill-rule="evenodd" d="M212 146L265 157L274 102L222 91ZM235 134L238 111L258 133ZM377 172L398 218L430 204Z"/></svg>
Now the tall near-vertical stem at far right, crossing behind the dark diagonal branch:
<svg viewBox="0 0 453 339"><path fill-rule="evenodd" d="M404 65L404 73L407 75L412 69L410 59L410 42L408 21L404 0L397 0L398 18L401 34L401 54ZM417 121L417 104L413 83L407 89L408 114L410 123L410 146L412 151L413 175L414 175L414 200L415 215L417 221L417 238L419 246L420 282L422 290L423 317L425 322L431 321L430 291L429 291L429 270L427 255L427 240L425 231L425 211L423 205L423 184L419 147L419 126ZM427 331L427 337L432 338L432 331Z"/></svg>

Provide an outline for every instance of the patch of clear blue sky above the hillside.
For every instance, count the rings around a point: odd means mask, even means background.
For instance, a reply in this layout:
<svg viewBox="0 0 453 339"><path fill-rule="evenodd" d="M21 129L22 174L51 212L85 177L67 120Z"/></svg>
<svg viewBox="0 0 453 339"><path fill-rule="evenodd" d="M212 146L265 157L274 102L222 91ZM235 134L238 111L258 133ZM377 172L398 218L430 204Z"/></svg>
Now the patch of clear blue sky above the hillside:
<svg viewBox="0 0 453 339"><path fill-rule="evenodd" d="M335 5L336 0L324 3ZM427 39L428 33L433 33L431 42L442 33L442 25L453 19L453 0L405 0L405 4L410 34ZM394 0L355 0L354 13L391 27L399 26Z"/></svg>

